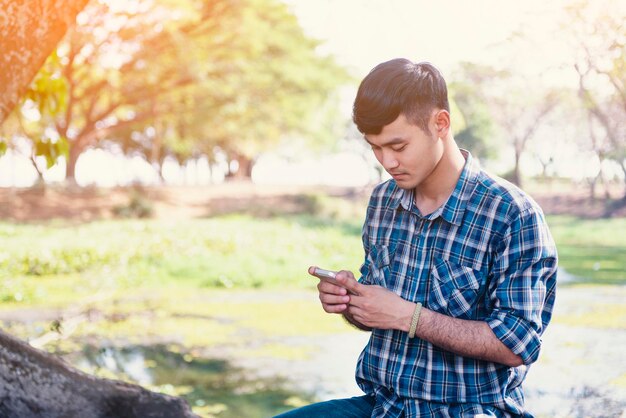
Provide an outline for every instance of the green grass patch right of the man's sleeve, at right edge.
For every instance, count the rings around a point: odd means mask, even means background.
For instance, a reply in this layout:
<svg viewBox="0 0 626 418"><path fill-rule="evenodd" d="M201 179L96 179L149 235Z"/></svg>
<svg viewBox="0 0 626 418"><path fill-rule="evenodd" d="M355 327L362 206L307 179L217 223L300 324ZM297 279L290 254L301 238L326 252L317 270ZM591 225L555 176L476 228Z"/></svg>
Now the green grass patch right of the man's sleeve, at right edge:
<svg viewBox="0 0 626 418"><path fill-rule="evenodd" d="M626 283L626 218L579 219L549 216L559 265L593 284Z"/></svg>

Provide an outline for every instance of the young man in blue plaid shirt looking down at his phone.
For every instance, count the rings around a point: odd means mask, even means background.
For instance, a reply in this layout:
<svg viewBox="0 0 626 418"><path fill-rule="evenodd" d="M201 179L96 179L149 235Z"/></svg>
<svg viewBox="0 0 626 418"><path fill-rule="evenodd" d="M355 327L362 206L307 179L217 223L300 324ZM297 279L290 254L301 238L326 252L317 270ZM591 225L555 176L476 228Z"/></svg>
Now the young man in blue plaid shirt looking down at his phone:
<svg viewBox="0 0 626 418"><path fill-rule="evenodd" d="M353 119L392 179L371 196L357 282L321 280L326 312L371 331L365 396L287 417L519 417L555 297L557 254L538 205L458 148L447 87L395 59L362 81Z"/></svg>

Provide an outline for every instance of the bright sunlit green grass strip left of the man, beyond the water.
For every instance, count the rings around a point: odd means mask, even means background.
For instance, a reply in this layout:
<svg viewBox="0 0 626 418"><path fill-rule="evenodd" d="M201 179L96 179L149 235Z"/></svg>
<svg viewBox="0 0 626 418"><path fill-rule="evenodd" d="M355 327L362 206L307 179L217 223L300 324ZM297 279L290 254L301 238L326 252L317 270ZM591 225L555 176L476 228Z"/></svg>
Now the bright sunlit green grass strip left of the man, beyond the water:
<svg viewBox="0 0 626 418"><path fill-rule="evenodd" d="M312 216L0 224L0 248L3 302L48 299L48 283L68 296L107 284L313 288L309 265L357 270L363 259L358 221Z"/></svg>

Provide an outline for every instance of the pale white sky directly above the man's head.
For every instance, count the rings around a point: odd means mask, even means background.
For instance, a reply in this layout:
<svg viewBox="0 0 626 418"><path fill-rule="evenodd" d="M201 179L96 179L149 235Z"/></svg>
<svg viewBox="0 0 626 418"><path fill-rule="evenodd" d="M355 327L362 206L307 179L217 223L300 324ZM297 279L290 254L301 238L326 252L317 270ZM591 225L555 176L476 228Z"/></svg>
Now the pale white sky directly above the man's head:
<svg viewBox="0 0 626 418"><path fill-rule="evenodd" d="M405 57L430 61L450 73L460 61L508 64L532 71L540 59L557 62L552 40L565 0L285 0L307 34L360 78L376 64ZM507 38L523 30L531 40L516 48ZM548 42L550 40L550 42Z"/></svg>

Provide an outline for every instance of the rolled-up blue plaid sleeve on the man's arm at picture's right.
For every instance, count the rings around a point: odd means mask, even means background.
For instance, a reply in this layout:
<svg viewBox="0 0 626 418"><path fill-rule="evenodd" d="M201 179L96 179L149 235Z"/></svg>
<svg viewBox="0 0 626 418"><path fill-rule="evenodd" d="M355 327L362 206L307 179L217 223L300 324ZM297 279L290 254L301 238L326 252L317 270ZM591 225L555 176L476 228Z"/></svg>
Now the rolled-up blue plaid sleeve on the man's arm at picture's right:
<svg viewBox="0 0 626 418"><path fill-rule="evenodd" d="M509 223L491 271L487 323L524 364L539 357L541 335L552 317L557 251L541 211L519 213Z"/></svg>

